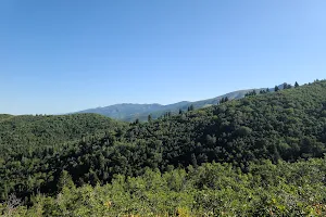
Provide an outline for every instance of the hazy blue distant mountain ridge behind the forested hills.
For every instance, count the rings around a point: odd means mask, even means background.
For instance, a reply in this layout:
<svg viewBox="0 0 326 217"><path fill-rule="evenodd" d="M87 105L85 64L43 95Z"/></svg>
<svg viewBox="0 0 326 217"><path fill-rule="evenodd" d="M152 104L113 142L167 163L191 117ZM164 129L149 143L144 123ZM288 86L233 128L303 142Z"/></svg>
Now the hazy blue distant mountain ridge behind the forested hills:
<svg viewBox="0 0 326 217"><path fill-rule="evenodd" d="M284 84L278 86L279 89L283 89L283 87ZM162 105L159 103L152 103L152 104L121 103L121 104L114 104L104 107L84 110L76 113L95 113L95 114L100 114L114 119L120 119L125 122L134 122L136 119L143 122L147 120L148 115L151 115L152 118L155 119L167 112L175 114L178 113L179 110L187 111L187 108L190 105L193 105L195 108L201 108L201 107L218 104L220 100L223 98L228 98L229 100L237 100L237 99L244 98L246 93L250 91L255 90L259 92L261 90L266 90L266 89L267 88L237 90L208 100L201 100L196 102L181 101L181 102L167 104L167 105ZM274 91L274 88L269 88L269 90Z"/></svg>

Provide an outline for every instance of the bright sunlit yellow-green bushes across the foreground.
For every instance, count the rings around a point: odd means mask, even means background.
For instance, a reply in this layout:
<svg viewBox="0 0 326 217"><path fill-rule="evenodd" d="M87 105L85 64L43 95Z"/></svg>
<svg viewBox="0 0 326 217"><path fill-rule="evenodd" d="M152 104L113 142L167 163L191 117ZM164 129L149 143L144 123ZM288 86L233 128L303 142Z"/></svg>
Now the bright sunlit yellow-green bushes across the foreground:
<svg viewBox="0 0 326 217"><path fill-rule="evenodd" d="M326 158L297 163L203 164L167 173L116 176L102 187L64 188L36 195L30 206L8 203L12 216L325 216Z"/></svg>

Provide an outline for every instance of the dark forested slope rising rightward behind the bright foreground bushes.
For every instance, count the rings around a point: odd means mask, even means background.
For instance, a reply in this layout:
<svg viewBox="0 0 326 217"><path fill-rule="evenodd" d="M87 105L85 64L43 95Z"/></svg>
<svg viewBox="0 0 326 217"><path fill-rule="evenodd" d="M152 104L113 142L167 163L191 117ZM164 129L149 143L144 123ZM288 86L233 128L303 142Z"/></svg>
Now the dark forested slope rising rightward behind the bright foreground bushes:
<svg viewBox="0 0 326 217"><path fill-rule="evenodd" d="M111 182L220 162L250 170L250 162L321 157L326 142L326 81L233 100L180 115L108 130L60 149L33 154L2 150L2 200L55 193L63 169L76 186ZM77 124L76 124L77 125Z"/></svg>

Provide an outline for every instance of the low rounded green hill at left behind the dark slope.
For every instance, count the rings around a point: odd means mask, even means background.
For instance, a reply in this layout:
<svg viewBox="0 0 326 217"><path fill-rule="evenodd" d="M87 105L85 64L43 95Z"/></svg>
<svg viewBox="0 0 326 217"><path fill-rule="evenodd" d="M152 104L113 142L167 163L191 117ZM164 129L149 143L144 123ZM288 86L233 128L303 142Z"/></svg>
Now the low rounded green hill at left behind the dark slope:
<svg viewBox="0 0 326 217"><path fill-rule="evenodd" d="M17 148L55 145L83 136L116 128L116 120L97 114L74 115L1 115L0 145Z"/></svg>

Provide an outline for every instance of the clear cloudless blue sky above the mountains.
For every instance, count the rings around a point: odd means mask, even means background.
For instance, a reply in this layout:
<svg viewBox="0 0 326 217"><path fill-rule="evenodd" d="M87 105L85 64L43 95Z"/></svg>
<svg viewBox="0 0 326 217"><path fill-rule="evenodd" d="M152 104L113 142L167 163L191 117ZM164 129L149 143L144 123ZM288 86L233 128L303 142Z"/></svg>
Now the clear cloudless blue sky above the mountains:
<svg viewBox="0 0 326 217"><path fill-rule="evenodd" d="M1 0L0 113L326 78L325 0Z"/></svg>

